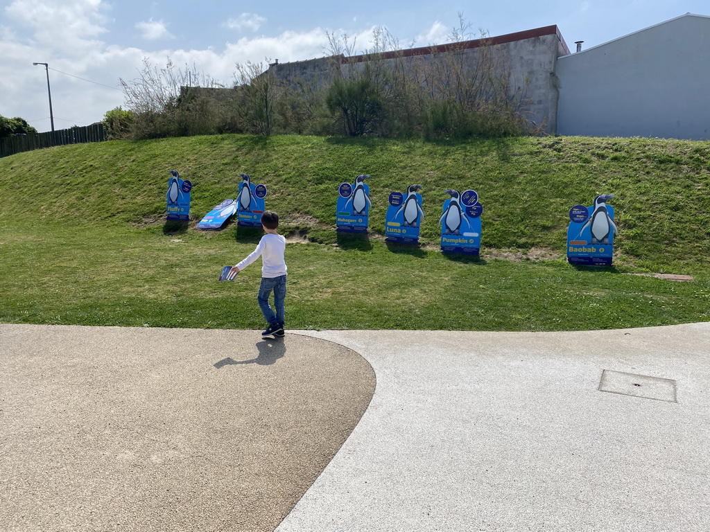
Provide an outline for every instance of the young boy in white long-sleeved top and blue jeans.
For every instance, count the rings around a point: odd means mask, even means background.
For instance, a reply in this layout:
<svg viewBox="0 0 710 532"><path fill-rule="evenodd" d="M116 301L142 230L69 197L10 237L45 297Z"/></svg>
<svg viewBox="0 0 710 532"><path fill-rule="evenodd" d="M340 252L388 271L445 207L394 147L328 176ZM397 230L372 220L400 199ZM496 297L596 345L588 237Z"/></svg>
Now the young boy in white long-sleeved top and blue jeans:
<svg viewBox="0 0 710 532"><path fill-rule="evenodd" d="M234 279L234 276L244 270L259 255L261 255L261 287L256 299L259 302L261 312L268 321L266 331L261 336L276 336L283 338L283 320L285 314L284 301L286 299L286 263L283 253L286 249L286 239L278 234L278 214L266 211L261 215L261 226L266 235L261 237L256 250L253 250L246 259L239 262L229 270L227 279ZM274 314L268 298L273 291L273 304L276 309Z"/></svg>

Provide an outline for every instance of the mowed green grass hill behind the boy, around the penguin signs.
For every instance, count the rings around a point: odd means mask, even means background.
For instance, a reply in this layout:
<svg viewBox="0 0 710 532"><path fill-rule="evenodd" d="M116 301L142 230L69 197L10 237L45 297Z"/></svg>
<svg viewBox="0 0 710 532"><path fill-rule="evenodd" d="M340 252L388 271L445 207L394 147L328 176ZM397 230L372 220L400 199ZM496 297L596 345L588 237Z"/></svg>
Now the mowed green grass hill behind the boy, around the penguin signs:
<svg viewBox="0 0 710 532"><path fill-rule="evenodd" d="M166 223L168 170L192 220ZM710 319L710 143L640 138L457 142L216 135L110 141L0 159L0 321L260 328L261 231L197 221L268 189L290 244L287 328L552 331ZM367 236L335 231L339 184L370 174ZM388 196L422 184L419 246L383 240ZM484 207L478 260L439 252L445 189ZM613 267L565 260L569 209L615 194ZM673 282L629 274L690 275Z"/></svg>

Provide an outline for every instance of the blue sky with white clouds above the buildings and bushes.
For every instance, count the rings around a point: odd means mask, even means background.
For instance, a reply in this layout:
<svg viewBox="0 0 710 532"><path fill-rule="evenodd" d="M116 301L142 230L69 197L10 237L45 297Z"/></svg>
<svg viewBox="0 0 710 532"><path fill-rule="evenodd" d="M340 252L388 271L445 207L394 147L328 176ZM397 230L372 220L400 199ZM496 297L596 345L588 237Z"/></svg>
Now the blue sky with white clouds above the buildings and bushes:
<svg viewBox="0 0 710 532"><path fill-rule="evenodd" d="M0 0L0 114L49 131L45 69L55 128L100 121L124 105L119 79L136 79L144 58L193 65L234 82L236 63L327 55L327 32L371 47L385 27L402 48L447 42L459 13L471 38L557 24L570 50L603 44L684 13L710 15L707 0L502 0L357 2Z"/></svg>

